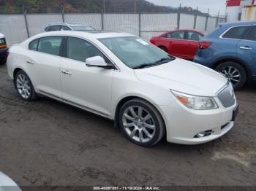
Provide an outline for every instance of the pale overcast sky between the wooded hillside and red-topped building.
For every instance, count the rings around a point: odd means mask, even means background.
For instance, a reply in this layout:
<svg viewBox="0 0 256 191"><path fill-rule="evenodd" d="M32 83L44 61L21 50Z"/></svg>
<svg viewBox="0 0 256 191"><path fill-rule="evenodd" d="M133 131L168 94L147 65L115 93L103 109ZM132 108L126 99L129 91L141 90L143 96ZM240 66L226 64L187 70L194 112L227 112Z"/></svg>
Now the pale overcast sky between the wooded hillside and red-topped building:
<svg viewBox="0 0 256 191"><path fill-rule="evenodd" d="M157 5L164 5L170 7L193 7L202 12L207 12L210 9L210 15L217 15L218 11L220 15L225 15L225 0L147 0Z"/></svg>

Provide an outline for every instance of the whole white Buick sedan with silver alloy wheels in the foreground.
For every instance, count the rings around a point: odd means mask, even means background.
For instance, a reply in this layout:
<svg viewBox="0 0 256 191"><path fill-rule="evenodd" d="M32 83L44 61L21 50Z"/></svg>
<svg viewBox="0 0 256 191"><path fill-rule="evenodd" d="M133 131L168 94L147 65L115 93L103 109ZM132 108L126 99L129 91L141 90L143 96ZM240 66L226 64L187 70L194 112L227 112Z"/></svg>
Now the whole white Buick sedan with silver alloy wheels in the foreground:
<svg viewBox="0 0 256 191"><path fill-rule="evenodd" d="M221 74L131 34L54 31L9 51L8 73L23 100L47 96L107 117L141 146L164 136L178 144L217 139L238 112Z"/></svg>

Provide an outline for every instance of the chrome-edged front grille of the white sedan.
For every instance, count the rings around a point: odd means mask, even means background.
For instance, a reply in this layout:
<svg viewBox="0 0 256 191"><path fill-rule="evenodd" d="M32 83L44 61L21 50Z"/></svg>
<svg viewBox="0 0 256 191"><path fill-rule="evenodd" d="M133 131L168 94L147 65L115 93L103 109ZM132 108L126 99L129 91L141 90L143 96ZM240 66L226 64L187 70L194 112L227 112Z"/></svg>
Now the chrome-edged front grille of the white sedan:
<svg viewBox="0 0 256 191"><path fill-rule="evenodd" d="M235 93L231 83L218 93L219 101L225 107L233 106L236 102Z"/></svg>

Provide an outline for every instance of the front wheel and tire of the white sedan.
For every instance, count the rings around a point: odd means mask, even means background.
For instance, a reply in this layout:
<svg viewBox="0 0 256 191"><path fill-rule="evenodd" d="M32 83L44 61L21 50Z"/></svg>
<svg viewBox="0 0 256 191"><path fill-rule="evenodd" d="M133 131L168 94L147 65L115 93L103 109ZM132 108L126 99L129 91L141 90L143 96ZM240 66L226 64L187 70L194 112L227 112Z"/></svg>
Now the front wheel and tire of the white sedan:
<svg viewBox="0 0 256 191"><path fill-rule="evenodd" d="M120 109L118 121L127 139L143 147L157 144L165 134L165 125L157 109L141 99L127 101Z"/></svg>

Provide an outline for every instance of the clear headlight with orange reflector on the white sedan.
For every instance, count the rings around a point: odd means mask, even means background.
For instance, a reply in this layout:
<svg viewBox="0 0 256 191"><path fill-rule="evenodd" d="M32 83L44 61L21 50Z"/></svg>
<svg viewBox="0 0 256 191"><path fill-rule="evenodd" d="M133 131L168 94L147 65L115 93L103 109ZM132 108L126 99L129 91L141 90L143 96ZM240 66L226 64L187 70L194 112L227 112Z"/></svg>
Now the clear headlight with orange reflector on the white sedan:
<svg viewBox="0 0 256 191"><path fill-rule="evenodd" d="M187 106L189 109L208 110L208 109L219 108L214 98L188 95L188 94L179 93L173 90L171 90L171 92L173 93L173 95L176 96L178 101L180 101L182 104Z"/></svg>

